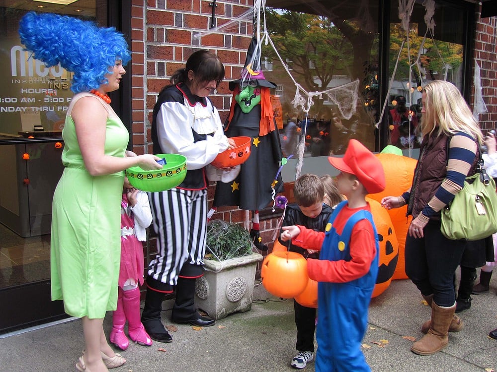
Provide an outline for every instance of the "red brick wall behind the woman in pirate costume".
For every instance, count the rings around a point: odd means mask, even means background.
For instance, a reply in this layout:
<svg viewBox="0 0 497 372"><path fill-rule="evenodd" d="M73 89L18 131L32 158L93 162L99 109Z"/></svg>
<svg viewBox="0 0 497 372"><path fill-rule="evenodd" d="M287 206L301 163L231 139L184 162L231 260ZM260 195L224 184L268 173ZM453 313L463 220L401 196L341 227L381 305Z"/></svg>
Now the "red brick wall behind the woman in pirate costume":
<svg viewBox="0 0 497 372"><path fill-rule="evenodd" d="M153 153L151 124L157 96L169 84L172 73L184 67L188 57L198 49L216 53L225 66L226 79L210 98L221 120L224 122L228 117L232 97L228 82L240 77L252 26L240 22L239 32L230 28L201 39L194 38L197 32L210 28L210 3L209 0L147 0L144 5L141 0L132 1L133 149L137 154ZM216 24L221 25L251 7L252 0L218 0L216 4ZM208 190L209 207L214 186L215 183L211 183ZM238 208L219 208L212 218L244 223L250 228L250 213ZM264 243L271 243L275 227L275 219L261 221Z"/></svg>

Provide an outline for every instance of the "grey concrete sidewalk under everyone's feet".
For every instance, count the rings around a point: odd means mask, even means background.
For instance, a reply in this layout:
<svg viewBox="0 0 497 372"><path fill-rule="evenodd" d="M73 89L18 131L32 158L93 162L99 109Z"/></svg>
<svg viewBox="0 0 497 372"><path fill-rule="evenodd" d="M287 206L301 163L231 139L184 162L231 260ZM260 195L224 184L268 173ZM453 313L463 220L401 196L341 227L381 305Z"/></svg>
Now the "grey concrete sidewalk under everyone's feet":
<svg viewBox="0 0 497 372"><path fill-rule="evenodd" d="M473 295L472 307L460 313L465 327L449 334L449 346L433 356L410 351L411 336L419 339L420 326L429 309L410 280L395 280L372 300L369 329L363 352L372 371L492 371L497 372L497 340L488 337L497 328L497 275L490 293ZM172 300L164 303L163 321L170 325ZM130 344L122 352L123 372L200 371L294 371L296 328L292 300L269 295L259 285L254 289L252 309L220 319L213 327L194 330L176 325L173 342L154 342L151 347ZM104 323L111 327L109 314ZM386 340L387 342L383 342ZM0 339L0 371L75 371L84 347L81 320L52 325ZM314 371L314 361L305 371Z"/></svg>

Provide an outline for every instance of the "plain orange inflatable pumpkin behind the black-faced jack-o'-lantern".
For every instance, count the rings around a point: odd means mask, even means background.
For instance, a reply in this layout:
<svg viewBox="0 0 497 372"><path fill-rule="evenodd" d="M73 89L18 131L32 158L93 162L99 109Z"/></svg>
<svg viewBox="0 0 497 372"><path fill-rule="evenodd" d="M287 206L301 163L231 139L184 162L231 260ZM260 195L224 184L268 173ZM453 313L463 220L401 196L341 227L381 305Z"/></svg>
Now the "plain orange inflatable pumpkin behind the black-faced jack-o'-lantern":
<svg viewBox="0 0 497 372"><path fill-rule="evenodd" d="M414 168L417 161L407 156L388 153L380 153L376 154L376 156L380 159L383 170L385 171L386 187L382 192L369 194L368 197L381 202L381 199L385 196L402 195L413 183ZM399 262L397 263L397 268L394 271L392 279L407 279L404 248L406 246L407 231L413 217L406 217L407 205L387 210L387 213L390 215L399 244Z"/></svg>

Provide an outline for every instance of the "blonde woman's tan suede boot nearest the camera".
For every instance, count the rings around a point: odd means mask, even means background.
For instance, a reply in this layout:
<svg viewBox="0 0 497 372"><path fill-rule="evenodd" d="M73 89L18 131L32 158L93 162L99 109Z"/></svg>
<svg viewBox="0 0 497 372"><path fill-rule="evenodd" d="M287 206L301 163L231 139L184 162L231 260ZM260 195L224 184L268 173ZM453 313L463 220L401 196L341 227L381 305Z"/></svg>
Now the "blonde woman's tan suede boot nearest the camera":
<svg viewBox="0 0 497 372"><path fill-rule="evenodd" d="M449 344L447 332L455 310L455 305L441 308L432 301L430 329L419 341L414 342L411 351L418 355L431 355L447 347Z"/></svg>

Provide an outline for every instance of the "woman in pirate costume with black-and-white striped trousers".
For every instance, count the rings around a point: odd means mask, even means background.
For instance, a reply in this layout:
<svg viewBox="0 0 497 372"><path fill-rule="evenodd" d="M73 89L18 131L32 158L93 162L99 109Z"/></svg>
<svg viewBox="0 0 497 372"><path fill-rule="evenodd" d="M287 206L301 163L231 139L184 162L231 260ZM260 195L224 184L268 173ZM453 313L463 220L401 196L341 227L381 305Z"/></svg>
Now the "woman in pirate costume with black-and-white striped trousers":
<svg viewBox="0 0 497 372"><path fill-rule="evenodd" d="M158 235L158 254L150 262L142 323L152 339L171 342L161 322L164 295L176 292L172 321L209 326L214 320L195 309L195 280L203 275L206 243L206 166L218 153L233 148L223 132L217 109L207 97L224 78L224 66L208 51L193 53L185 68L159 94L154 107L154 153L187 158L185 180L177 187L149 193Z"/></svg>

